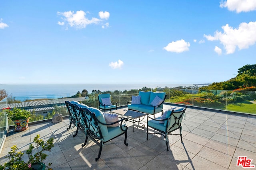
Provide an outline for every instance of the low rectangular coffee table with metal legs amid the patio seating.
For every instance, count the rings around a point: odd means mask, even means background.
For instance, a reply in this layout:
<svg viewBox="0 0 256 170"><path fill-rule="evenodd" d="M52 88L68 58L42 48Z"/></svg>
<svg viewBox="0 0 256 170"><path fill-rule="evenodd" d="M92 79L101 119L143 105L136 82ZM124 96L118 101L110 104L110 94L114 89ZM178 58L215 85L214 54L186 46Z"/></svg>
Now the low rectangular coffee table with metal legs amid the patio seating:
<svg viewBox="0 0 256 170"><path fill-rule="evenodd" d="M141 127L144 128L145 124L141 123L143 121L146 113L140 113L138 111L128 110L128 108L122 108L117 110L111 110L110 112L116 113L121 116L121 118L126 117L128 121L133 123L133 131L134 131L134 123L138 122L138 125L141 124ZM136 120L138 119L138 120Z"/></svg>

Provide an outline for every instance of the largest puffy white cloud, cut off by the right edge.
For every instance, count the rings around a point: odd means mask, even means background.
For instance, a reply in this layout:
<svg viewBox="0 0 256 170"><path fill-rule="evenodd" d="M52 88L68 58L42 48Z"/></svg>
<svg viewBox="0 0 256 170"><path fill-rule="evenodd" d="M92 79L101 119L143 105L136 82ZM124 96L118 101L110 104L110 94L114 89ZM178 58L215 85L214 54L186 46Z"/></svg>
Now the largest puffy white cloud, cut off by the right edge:
<svg viewBox="0 0 256 170"><path fill-rule="evenodd" d="M204 35L209 41L219 40L226 49L227 54L235 52L236 47L247 49L256 43L256 21L240 23L238 28L230 27L228 24L222 26L224 33L216 31L214 36Z"/></svg>

